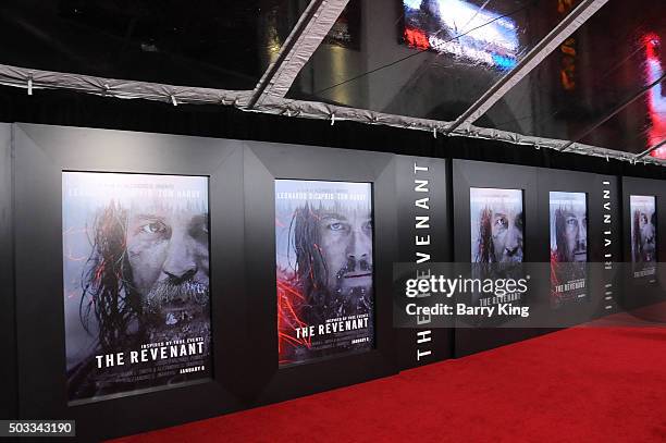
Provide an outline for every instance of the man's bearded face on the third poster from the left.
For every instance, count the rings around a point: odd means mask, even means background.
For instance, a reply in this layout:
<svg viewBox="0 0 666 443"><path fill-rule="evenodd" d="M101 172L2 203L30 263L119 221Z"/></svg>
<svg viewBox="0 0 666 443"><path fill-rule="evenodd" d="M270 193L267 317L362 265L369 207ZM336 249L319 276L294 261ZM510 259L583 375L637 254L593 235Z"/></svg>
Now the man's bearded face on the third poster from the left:
<svg viewBox="0 0 666 443"><path fill-rule="evenodd" d="M502 204L490 211L491 235L497 262L522 261L522 211Z"/></svg>

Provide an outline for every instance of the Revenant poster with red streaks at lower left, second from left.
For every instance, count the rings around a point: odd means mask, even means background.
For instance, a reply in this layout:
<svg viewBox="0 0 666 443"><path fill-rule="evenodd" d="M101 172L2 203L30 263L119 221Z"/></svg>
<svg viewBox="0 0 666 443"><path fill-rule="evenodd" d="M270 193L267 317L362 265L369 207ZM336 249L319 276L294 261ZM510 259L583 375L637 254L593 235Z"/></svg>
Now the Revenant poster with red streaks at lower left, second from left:
<svg viewBox="0 0 666 443"><path fill-rule="evenodd" d="M280 365L371 349L369 183L275 181Z"/></svg>

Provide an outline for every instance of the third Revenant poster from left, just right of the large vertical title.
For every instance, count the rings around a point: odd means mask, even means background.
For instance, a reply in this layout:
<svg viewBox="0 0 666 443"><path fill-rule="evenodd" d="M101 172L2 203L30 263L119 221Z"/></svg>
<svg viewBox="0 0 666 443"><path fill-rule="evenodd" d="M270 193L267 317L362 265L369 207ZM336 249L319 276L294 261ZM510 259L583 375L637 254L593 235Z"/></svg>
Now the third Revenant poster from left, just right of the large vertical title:
<svg viewBox="0 0 666 443"><path fill-rule="evenodd" d="M522 271L522 190L469 189L471 212L471 261L474 279L523 278ZM521 304L523 293L476 294L479 306Z"/></svg>

